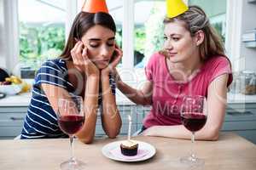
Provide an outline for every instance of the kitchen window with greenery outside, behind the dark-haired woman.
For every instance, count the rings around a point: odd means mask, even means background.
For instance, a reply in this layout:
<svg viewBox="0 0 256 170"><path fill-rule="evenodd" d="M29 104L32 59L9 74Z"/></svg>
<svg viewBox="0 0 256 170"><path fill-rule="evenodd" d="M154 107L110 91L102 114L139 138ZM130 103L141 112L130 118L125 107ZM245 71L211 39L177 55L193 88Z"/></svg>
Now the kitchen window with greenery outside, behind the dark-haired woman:
<svg viewBox="0 0 256 170"><path fill-rule="evenodd" d="M73 18L83 3L83 0L18 0L21 77L34 77L35 71L46 59L61 54ZM122 47L123 2L112 0L107 3L117 26L116 41Z"/></svg>

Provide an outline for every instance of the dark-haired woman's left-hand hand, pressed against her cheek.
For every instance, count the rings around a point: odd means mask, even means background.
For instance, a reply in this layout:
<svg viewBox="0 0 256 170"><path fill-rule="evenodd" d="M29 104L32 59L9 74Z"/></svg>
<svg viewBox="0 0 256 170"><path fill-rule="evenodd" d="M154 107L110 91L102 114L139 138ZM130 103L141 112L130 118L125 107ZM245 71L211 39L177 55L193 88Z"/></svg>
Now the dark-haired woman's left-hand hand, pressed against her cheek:
<svg viewBox="0 0 256 170"><path fill-rule="evenodd" d="M79 41L76 43L71 51L71 56L73 59L73 65L79 70L85 72L87 77L99 76L99 70L94 65L87 55L87 48L84 47L84 43Z"/></svg>

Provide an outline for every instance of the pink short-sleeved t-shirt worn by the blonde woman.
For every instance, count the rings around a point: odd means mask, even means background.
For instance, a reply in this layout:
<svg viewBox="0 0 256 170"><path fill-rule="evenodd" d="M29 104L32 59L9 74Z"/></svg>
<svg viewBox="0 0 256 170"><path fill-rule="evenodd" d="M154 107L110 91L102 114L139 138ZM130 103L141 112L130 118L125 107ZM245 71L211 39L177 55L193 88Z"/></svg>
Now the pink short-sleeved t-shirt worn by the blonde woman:
<svg viewBox="0 0 256 170"><path fill-rule="evenodd" d="M207 97L207 88L218 76L229 74L227 86L232 82L230 62L223 56L207 59L200 71L189 82L177 82L171 76L166 59L161 54L153 54L145 68L146 77L153 82L152 110L143 120L144 127L156 125L178 125L180 105L184 95Z"/></svg>

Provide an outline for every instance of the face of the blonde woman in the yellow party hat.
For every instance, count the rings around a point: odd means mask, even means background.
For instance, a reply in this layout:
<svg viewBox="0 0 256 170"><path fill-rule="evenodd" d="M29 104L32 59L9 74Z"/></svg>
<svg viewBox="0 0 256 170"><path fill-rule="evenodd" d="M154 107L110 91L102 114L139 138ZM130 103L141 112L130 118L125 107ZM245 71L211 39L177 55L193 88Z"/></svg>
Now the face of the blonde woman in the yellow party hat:
<svg viewBox="0 0 256 170"><path fill-rule="evenodd" d="M191 37L183 21L167 23L164 32L164 48L172 63L188 62L194 57L199 57L196 37Z"/></svg>

